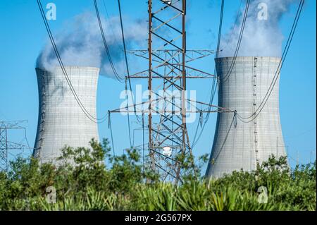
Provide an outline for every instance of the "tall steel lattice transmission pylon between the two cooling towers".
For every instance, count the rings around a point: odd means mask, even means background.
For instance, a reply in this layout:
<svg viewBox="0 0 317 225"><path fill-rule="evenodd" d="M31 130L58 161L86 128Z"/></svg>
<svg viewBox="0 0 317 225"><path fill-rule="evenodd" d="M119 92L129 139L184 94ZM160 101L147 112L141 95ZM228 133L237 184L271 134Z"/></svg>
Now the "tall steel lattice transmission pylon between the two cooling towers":
<svg viewBox="0 0 317 225"><path fill-rule="evenodd" d="M182 174L178 156L192 155L187 114L201 116L204 113L232 111L187 98L187 79L214 79L216 76L188 66L215 52L186 49L186 0L149 0L148 4L148 49L129 53L146 59L149 68L127 77L129 81L142 78L148 80L148 101L128 107L126 112L148 115L150 167L159 172L162 181L178 183ZM159 92L160 89L163 89L163 93ZM170 95L175 90L181 95ZM158 104L163 110L158 109ZM188 105L193 109L188 110ZM110 113L122 110L116 109Z"/></svg>

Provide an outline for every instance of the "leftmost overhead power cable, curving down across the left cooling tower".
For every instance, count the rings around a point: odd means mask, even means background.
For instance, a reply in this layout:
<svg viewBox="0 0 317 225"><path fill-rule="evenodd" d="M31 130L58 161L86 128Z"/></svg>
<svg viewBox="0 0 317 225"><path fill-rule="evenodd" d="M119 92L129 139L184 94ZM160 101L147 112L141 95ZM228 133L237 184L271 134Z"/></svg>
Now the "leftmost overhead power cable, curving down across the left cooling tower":
<svg viewBox="0 0 317 225"><path fill-rule="evenodd" d="M58 52L58 49L56 47L56 43L55 43L55 40L54 40L54 37L52 35L52 32L51 32L51 29L49 28L49 23L47 22L46 20L46 16L45 16L45 12L44 12L44 9L43 9L43 6L42 6L42 3L41 3L41 0L37 0L37 5L39 6L39 11L41 12L41 16L42 16L42 19L44 21L44 25L45 25L45 28L46 28L46 31L49 35L49 39L51 40L51 44L52 44L52 47L54 49L54 52L56 54L56 58L58 59L58 63L59 65L61 66L61 70L63 72L63 75L65 76L66 78L66 82L68 83L68 86L70 87L70 91L72 92L72 94L74 95L75 97L75 100L78 104L78 106L80 107L80 109L82 110L82 112L87 116L87 118L89 118L90 121L94 122L94 123L103 123L104 121L106 121L106 115L102 118L95 118L94 116L92 116L92 114L89 114L89 112L87 111L87 109L84 107L84 105L82 104L82 102L80 101L80 98L78 97L77 93L75 92L75 89L72 85L72 83L70 82L70 78L68 76L68 73L66 71L66 68L65 66L63 65L63 61L61 59L61 56Z"/></svg>

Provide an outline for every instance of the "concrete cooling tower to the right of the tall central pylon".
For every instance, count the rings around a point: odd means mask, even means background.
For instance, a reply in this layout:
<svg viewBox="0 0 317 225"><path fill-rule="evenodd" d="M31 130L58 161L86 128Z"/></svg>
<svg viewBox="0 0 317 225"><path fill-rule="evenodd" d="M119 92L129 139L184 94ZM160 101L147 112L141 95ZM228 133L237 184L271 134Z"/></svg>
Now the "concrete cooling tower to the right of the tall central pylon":
<svg viewBox="0 0 317 225"><path fill-rule="evenodd" d="M280 58L237 57L230 74L232 60L232 57L216 59L220 78L218 105L236 110L237 114L218 114L206 171L208 178L240 169L252 171L257 163L266 161L271 154L285 156L280 126L279 80L261 113L256 111L270 88ZM256 114L259 115L255 118Z"/></svg>

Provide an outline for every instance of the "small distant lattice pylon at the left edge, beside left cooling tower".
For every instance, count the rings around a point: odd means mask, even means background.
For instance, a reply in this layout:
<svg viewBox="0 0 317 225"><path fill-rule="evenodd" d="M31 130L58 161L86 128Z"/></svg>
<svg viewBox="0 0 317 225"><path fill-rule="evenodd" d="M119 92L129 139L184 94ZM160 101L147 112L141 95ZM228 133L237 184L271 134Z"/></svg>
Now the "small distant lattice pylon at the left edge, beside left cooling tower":
<svg viewBox="0 0 317 225"><path fill-rule="evenodd" d="M8 154L10 150L30 149L30 147L12 142L8 138L9 130L25 130L25 127L20 126L21 123L25 123L25 121L0 121L0 170L2 171L8 171Z"/></svg>

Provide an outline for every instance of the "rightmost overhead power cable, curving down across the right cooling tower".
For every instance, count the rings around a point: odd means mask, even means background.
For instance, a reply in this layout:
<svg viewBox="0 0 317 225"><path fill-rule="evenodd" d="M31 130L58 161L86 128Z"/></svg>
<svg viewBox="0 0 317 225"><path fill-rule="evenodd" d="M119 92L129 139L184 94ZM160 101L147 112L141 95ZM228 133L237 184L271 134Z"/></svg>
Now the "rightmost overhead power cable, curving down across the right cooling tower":
<svg viewBox="0 0 317 225"><path fill-rule="evenodd" d="M290 35L287 39L287 43L285 45L285 49L282 53L282 57L280 59L280 63L278 64L278 68L277 70L275 71L275 75L273 77L273 80L271 82L271 85L270 87L268 88L268 91L266 92L266 95L264 96L261 104L259 105L259 107L256 109L256 111L254 111L253 114L251 114L250 116L247 116L247 117L242 117L240 116L239 114L237 115L238 118L240 118L240 121L244 122L244 123L250 123L251 121L254 121L254 119L259 116L259 114L261 114L261 111L263 110L263 108L266 106L266 103L268 102L268 98L271 96L271 93L274 89L274 86L275 86L275 83L276 81L278 80L278 77L280 76L280 71L282 69L282 66L284 65L284 62L285 62L285 58L287 56L287 53L290 49L290 45L292 44L292 39L294 37L294 33L295 33L295 30L297 28L297 23L299 21L299 17L301 16L301 13L302 13L302 8L304 6L304 1L305 0L301 0L300 3L299 3L299 6L297 8L297 13L296 13L296 16L294 18L294 22L293 22L293 25L292 25L292 29L290 31ZM247 120L247 121L246 121Z"/></svg>

